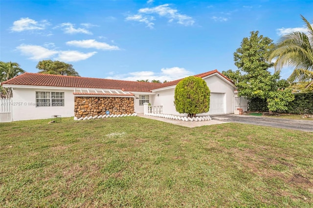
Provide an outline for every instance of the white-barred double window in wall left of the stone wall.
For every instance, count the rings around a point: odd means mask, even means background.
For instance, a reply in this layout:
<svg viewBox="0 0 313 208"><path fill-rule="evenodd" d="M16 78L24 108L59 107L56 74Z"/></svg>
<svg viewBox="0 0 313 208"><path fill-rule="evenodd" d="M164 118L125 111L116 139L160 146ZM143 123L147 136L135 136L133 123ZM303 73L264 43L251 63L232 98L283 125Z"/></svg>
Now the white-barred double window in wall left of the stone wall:
<svg viewBox="0 0 313 208"><path fill-rule="evenodd" d="M36 92L36 106L64 106L64 92Z"/></svg>

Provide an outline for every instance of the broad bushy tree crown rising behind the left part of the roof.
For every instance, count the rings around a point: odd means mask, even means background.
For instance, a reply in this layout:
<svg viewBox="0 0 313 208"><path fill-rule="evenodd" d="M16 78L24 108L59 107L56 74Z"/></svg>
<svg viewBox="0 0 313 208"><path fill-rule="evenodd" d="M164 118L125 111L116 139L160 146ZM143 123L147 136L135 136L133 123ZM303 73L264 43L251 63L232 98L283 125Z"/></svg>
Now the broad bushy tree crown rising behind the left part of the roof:
<svg viewBox="0 0 313 208"><path fill-rule="evenodd" d="M39 69L38 73L41 74L57 74L80 77L78 72L73 68L73 65L65 62L43 60L38 62L36 68Z"/></svg>

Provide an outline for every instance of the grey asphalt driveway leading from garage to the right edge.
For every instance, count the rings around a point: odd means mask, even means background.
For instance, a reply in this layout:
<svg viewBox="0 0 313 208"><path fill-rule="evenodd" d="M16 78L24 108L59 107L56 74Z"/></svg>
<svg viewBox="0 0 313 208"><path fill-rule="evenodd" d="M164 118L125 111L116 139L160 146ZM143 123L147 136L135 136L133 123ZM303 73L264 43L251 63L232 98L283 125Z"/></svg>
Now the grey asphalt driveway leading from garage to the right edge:
<svg viewBox="0 0 313 208"><path fill-rule="evenodd" d="M211 118L212 120L224 122L265 125L276 128L287 128L313 132L313 121L307 120L278 119L268 116L246 116L234 114L212 115Z"/></svg>

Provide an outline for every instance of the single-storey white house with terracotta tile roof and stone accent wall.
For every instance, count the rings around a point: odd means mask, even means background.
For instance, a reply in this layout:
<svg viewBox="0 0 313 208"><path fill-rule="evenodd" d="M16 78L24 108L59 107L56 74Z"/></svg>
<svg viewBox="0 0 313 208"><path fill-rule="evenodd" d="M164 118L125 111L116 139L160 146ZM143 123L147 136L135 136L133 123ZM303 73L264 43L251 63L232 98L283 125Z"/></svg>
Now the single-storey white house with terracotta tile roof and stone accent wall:
<svg viewBox="0 0 313 208"><path fill-rule="evenodd" d="M210 110L206 114L234 112L234 84L217 70L195 75L207 83ZM161 106L165 114L179 115L174 91L180 80L145 83L98 78L23 73L2 83L13 89L12 120L143 113L144 103Z"/></svg>

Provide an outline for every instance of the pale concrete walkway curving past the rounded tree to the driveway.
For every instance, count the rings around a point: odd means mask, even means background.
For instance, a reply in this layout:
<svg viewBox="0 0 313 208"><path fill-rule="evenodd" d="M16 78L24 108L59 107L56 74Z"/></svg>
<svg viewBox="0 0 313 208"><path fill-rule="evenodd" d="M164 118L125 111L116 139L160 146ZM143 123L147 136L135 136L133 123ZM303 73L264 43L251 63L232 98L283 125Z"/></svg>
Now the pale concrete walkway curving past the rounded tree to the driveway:
<svg viewBox="0 0 313 208"><path fill-rule="evenodd" d="M162 121L162 122L166 122L166 123L170 123L170 124L175 124L175 125L182 125L182 126L186 126L186 127L198 127L198 126L202 126L202 125L216 125L216 124L224 124L227 122L224 121L216 121L216 120L210 120L210 121L199 121L199 122L185 122L185 121L179 121L179 120L174 120L174 119L166 119L166 118L161 118L161 117L154 117L154 116L146 116L143 114L138 114L137 116L142 117L142 118L147 118L147 119L153 119L153 120L157 120L157 121Z"/></svg>

